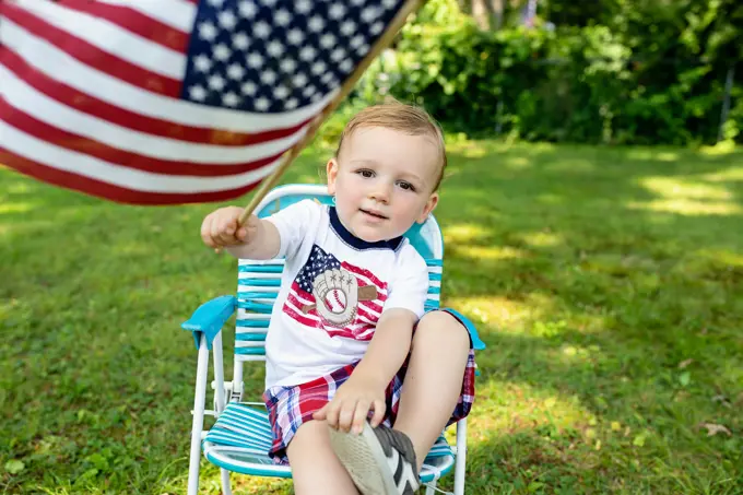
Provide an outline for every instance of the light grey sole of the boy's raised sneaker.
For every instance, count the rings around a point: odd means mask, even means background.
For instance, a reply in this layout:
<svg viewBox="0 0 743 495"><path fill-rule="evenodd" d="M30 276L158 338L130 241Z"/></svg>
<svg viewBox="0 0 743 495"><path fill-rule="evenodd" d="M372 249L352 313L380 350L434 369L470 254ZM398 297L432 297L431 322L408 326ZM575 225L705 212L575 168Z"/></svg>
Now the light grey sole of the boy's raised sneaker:
<svg viewBox="0 0 743 495"><path fill-rule="evenodd" d="M329 431L330 445L362 495L397 495L387 456L368 423L361 435Z"/></svg>

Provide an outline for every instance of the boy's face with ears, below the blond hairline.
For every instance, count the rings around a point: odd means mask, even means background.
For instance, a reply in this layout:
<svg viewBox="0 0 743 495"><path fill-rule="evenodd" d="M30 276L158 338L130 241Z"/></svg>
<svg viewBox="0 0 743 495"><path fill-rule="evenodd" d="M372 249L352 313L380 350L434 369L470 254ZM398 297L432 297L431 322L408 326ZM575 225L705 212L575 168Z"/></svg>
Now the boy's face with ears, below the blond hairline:
<svg viewBox="0 0 743 495"><path fill-rule="evenodd" d="M328 191L352 234L367 243L388 240L425 222L436 207L439 167L432 137L361 128L328 162Z"/></svg>

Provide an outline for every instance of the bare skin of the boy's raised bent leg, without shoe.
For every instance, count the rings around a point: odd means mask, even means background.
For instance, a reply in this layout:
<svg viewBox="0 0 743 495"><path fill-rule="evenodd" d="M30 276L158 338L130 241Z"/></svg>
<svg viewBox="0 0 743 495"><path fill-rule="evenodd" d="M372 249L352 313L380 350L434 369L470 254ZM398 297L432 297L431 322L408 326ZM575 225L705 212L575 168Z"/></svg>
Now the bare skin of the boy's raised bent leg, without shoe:
<svg viewBox="0 0 743 495"><path fill-rule="evenodd" d="M457 405L469 352L467 329L451 314L433 311L421 318L392 426L413 443L418 472Z"/></svg>

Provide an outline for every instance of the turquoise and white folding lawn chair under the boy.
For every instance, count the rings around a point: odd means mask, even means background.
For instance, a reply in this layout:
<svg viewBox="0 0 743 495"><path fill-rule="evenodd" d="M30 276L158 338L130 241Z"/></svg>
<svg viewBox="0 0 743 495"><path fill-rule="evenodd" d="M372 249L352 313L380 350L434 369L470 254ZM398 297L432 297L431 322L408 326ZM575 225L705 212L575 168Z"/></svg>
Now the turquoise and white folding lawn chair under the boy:
<svg viewBox="0 0 743 495"><path fill-rule="evenodd" d="M259 217L304 199L323 204L331 202L325 186L292 185L273 189L256 209ZM405 236L428 264L428 300L426 309L439 306L444 239L433 215L423 225L414 225ZM256 476L291 478L288 465L280 465L269 458L271 427L263 402L247 402L243 397L243 365L266 361L266 333L271 309L279 293L284 261L247 260L238 262L237 297L222 296L200 306L181 327L193 334L198 349L193 425L188 473L188 494L199 488L199 462L204 457L219 465L225 495L231 495L229 472ZM235 365L233 380L224 381L222 357L222 326L237 310L235 332ZM484 349L474 328L470 333L475 349ZM214 353L214 409L205 410L209 351ZM258 393L260 398L260 393ZM216 417L211 429L203 429L204 415ZM455 494L464 493L464 462L467 456L467 420L457 423L457 444L448 445L444 435L426 457L421 480L433 495L436 482L455 469Z"/></svg>

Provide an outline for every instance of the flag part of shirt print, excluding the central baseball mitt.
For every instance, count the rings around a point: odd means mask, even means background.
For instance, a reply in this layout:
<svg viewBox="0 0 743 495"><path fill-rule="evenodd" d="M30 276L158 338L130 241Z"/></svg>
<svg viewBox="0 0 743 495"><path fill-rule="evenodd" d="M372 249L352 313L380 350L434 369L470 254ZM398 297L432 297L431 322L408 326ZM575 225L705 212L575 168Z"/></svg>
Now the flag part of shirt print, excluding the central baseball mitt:
<svg viewBox="0 0 743 495"><path fill-rule="evenodd" d="M374 298L358 298L356 315L350 325L339 328L325 320L318 313L317 300L312 295L312 282L316 276L328 270L344 270L356 278L358 288L374 288ZM377 321L381 316L382 307L387 300L387 282L382 282L369 270L355 267L346 261L339 261L333 255L326 252L315 245L305 266L299 270L292 283L292 287L284 303L284 313L302 325L312 328L321 328L331 337L346 337L355 340L371 340ZM311 309L310 309L311 308Z"/></svg>

